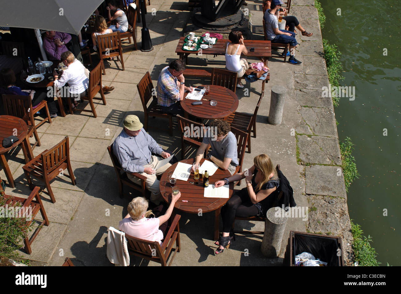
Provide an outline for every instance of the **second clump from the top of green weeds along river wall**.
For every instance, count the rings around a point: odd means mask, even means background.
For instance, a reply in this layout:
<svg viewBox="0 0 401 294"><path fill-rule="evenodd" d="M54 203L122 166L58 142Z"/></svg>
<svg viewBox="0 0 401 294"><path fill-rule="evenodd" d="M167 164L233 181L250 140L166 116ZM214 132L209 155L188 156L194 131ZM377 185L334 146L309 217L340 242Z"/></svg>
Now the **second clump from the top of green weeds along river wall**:
<svg viewBox="0 0 401 294"><path fill-rule="evenodd" d="M328 80L332 87L338 87L340 85L339 82L344 79L344 77L340 75L340 72L342 71L342 65L340 63L339 56L341 53L337 50L337 46L335 44L330 45L326 39L323 39L323 51L324 60L326 61ZM340 99L332 96L332 100L333 105L337 107Z"/></svg>

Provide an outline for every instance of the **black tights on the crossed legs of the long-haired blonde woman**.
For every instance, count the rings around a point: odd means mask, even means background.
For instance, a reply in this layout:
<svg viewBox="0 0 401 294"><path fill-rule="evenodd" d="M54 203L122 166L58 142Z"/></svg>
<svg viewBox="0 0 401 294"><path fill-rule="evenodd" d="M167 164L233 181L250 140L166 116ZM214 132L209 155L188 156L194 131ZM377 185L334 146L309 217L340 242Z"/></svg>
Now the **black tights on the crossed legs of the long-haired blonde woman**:
<svg viewBox="0 0 401 294"><path fill-rule="evenodd" d="M242 189L238 193L231 196L226 205L221 208L221 218L223 219L223 232L229 233L233 227L235 216L252 217L258 215L259 211L256 206L251 203L247 188Z"/></svg>

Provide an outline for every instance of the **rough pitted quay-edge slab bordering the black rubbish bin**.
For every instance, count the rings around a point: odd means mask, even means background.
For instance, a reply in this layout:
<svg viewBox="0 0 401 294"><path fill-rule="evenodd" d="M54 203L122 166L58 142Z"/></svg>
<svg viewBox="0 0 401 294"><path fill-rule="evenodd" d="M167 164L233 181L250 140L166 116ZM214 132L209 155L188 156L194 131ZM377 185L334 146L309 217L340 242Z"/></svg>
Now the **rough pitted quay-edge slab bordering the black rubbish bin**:
<svg viewBox="0 0 401 294"><path fill-rule="evenodd" d="M330 204L328 197L308 195L309 204L309 225L308 230L322 232L326 235L342 237L342 255L346 265L352 263L352 233L344 228L350 227L348 216L348 205L346 199L331 199L334 204Z"/></svg>

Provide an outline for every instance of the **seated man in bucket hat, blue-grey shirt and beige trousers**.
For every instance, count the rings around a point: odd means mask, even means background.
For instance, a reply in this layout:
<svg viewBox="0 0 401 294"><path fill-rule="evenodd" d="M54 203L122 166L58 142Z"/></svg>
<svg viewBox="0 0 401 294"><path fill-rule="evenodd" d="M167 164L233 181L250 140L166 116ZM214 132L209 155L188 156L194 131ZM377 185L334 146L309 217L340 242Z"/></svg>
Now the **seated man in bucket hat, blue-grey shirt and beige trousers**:
<svg viewBox="0 0 401 294"><path fill-rule="evenodd" d="M126 116L124 130L115 138L113 152L130 180L140 182L130 174L131 172L139 172L146 176L146 188L151 192L150 201L158 205L163 198L160 195L159 180L156 175L162 174L171 164L167 163L157 170L154 168L161 157L167 158L170 154L163 151L162 147L146 133L143 126L138 116Z"/></svg>

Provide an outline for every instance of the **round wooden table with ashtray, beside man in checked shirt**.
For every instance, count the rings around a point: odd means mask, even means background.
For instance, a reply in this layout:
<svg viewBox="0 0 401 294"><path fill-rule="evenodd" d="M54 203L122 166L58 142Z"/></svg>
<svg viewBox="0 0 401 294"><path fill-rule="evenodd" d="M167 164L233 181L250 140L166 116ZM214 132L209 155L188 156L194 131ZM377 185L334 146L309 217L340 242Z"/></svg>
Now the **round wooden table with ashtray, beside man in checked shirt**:
<svg viewBox="0 0 401 294"><path fill-rule="evenodd" d="M217 105L210 105L210 100L217 101ZM191 116L205 120L228 118L230 114L237 110L239 104L238 97L233 91L216 85L210 85L209 96L203 95L201 100L203 104L191 105L194 101L195 100L184 98L184 100L180 102L186 117L190 114Z"/></svg>

